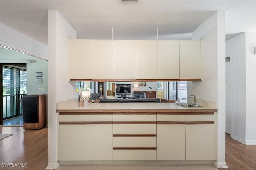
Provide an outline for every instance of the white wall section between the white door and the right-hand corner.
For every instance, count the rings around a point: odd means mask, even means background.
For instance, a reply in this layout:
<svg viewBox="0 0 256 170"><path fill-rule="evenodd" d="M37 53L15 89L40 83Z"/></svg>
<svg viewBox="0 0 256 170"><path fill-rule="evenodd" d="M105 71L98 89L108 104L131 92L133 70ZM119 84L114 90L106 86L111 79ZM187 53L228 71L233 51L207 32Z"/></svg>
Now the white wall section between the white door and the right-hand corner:
<svg viewBox="0 0 256 170"><path fill-rule="evenodd" d="M245 143L246 119L246 64L245 64L245 33L226 41L226 57L232 64L232 130L230 136Z"/></svg>

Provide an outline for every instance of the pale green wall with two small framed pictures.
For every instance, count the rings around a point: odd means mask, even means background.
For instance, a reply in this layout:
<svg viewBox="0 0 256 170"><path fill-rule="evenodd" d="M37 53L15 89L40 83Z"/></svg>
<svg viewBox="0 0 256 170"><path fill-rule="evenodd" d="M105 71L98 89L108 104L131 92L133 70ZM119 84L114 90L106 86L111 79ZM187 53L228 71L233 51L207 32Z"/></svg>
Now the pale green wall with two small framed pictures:
<svg viewBox="0 0 256 170"><path fill-rule="evenodd" d="M27 94L47 94L48 61L5 48L0 48L0 56L1 61L11 59L13 63L18 59L31 60L32 63L27 63ZM42 77L36 77L38 71L43 73ZM42 78L42 83L36 83L36 78ZM38 92L38 88L43 88L44 92Z"/></svg>

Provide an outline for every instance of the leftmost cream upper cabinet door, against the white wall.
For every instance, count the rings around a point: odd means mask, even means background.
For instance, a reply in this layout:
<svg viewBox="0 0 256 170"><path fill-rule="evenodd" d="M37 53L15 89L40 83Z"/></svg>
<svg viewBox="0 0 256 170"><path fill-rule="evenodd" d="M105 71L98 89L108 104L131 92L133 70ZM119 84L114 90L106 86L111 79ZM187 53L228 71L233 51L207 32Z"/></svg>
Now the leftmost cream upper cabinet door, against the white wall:
<svg viewBox="0 0 256 170"><path fill-rule="evenodd" d="M70 79L92 79L92 40L70 40Z"/></svg>

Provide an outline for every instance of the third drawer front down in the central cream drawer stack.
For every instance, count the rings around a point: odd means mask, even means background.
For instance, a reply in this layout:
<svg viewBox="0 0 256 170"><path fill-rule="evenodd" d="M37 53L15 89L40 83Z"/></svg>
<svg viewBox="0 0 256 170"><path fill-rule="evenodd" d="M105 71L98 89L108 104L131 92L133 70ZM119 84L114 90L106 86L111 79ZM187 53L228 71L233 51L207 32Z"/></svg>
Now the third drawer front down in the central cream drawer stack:
<svg viewBox="0 0 256 170"><path fill-rule="evenodd" d="M114 137L113 147L156 147L156 137Z"/></svg>

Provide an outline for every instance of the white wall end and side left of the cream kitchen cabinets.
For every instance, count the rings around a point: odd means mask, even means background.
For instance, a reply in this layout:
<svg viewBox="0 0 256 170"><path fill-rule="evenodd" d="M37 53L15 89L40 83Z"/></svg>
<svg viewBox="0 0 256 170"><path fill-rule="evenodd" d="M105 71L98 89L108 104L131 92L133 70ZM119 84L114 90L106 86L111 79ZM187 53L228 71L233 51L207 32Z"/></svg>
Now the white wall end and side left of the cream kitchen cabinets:
<svg viewBox="0 0 256 170"><path fill-rule="evenodd" d="M56 103L76 98L76 82L68 81L69 38L76 38L74 28L56 10L48 10L48 169L59 166Z"/></svg>

